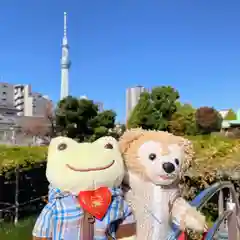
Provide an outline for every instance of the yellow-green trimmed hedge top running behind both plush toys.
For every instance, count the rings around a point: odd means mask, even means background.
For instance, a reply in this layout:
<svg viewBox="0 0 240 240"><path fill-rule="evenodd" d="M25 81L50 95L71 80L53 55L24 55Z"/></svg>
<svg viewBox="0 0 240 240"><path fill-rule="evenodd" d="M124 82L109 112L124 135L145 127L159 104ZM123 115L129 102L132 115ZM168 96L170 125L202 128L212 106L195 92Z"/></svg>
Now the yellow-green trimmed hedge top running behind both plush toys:
<svg viewBox="0 0 240 240"><path fill-rule="evenodd" d="M205 172L234 171L240 163L240 140L220 136L188 137L193 142L195 159L188 175L196 176ZM45 146L0 145L0 174L20 168L31 168L45 162ZM207 168L206 168L207 166Z"/></svg>

